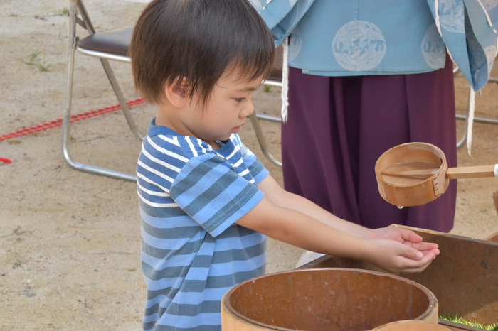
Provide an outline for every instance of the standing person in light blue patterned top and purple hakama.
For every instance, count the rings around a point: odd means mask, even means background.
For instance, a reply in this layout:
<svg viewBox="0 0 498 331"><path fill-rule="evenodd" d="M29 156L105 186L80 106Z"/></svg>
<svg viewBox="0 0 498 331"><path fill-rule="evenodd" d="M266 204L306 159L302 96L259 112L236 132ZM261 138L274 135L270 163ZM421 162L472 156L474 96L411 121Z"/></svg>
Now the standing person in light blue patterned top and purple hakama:
<svg viewBox="0 0 498 331"><path fill-rule="evenodd" d="M498 1L252 2L277 45L288 40L285 189L365 227L449 232L455 181L438 200L400 209L378 194L374 165L411 141L433 143L457 165L452 60L474 89L486 84Z"/></svg>

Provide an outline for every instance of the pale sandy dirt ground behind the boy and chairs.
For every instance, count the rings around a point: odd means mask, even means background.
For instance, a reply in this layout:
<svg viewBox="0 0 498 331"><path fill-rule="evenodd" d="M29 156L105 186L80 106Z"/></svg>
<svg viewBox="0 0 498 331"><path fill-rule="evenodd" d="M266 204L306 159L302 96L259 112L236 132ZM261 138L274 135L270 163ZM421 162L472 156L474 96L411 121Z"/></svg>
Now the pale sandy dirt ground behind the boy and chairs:
<svg viewBox="0 0 498 331"><path fill-rule="evenodd" d="M134 23L144 4L85 1L97 29ZM69 6L67 0L3 0L0 4L0 135L59 119L63 114ZM129 65L113 63L127 99L138 97ZM498 75L495 66L494 75ZM457 75L457 110L468 85ZM74 113L117 104L95 58L76 55ZM498 86L477 94L477 116L498 116ZM258 112L278 114L278 90L257 92ZM154 115L132 108L142 132ZM76 161L133 173L139 141L118 112L72 124ZM464 121L457 122L459 136ZM280 158L280 126L263 122ZM139 261L135 185L70 168L60 151L60 127L0 141L0 330L139 330L145 287ZM282 182L280 168L262 156L253 128L241 132ZM498 162L498 126L475 123L472 156L460 165ZM452 233L486 238L498 231L492 193L497 179L460 180ZM269 242L268 271L293 268L302 251Z"/></svg>

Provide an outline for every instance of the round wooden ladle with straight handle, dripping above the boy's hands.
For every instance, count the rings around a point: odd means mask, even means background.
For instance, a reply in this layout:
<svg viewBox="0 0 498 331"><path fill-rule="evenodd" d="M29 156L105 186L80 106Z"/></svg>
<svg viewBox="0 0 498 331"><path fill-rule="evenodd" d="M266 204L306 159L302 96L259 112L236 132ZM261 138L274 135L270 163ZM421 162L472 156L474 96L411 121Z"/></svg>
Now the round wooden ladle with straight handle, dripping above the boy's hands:
<svg viewBox="0 0 498 331"><path fill-rule="evenodd" d="M440 148L430 143L403 143L378 158L375 173L383 199L408 207L437 199L450 179L498 177L498 164L448 168Z"/></svg>

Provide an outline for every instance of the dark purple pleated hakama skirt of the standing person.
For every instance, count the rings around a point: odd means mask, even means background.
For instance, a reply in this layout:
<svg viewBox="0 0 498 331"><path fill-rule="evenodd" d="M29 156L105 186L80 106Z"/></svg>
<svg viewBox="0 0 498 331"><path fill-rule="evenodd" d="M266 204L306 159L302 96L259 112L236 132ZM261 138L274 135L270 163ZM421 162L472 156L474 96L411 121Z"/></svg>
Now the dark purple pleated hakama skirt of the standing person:
<svg viewBox="0 0 498 331"><path fill-rule="evenodd" d="M433 143L457 165L452 62L413 75L322 77L290 68L282 124L285 189L369 228L404 224L449 232L457 183L426 205L398 207L378 192L375 163L389 148Z"/></svg>

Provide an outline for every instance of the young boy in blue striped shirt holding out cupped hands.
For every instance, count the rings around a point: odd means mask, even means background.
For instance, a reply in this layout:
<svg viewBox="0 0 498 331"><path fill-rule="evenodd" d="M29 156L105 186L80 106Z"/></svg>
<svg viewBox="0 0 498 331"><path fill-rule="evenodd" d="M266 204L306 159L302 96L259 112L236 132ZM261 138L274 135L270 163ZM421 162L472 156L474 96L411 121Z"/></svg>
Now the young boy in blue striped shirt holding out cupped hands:
<svg viewBox="0 0 498 331"><path fill-rule="evenodd" d="M154 0L134 28L134 82L158 105L137 164L145 330L221 330L223 294L265 273L265 235L394 272L439 254L285 192L240 142L273 53L247 0Z"/></svg>

